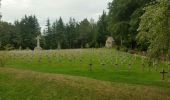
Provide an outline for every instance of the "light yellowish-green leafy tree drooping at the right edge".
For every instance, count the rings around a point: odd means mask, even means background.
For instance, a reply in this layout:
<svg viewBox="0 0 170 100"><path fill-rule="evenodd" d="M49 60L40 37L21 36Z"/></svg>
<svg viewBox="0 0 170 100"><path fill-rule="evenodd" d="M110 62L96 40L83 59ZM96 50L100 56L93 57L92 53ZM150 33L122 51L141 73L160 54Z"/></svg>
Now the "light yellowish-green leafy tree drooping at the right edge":
<svg viewBox="0 0 170 100"><path fill-rule="evenodd" d="M145 7L137 39L149 46L149 57L166 56L170 50L170 1L160 0Z"/></svg>

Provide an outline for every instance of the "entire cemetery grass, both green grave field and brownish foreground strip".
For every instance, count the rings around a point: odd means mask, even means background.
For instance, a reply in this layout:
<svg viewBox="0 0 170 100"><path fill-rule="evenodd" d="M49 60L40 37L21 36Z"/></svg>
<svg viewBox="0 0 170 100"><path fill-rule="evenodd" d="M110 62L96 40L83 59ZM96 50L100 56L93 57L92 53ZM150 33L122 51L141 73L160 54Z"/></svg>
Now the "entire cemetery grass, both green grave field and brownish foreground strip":
<svg viewBox="0 0 170 100"><path fill-rule="evenodd" d="M0 71L5 100L170 99L170 73L165 80L160 74L168 71L163 61L148 65L147 58L114 49L0 53L7 59Z"/></svg>

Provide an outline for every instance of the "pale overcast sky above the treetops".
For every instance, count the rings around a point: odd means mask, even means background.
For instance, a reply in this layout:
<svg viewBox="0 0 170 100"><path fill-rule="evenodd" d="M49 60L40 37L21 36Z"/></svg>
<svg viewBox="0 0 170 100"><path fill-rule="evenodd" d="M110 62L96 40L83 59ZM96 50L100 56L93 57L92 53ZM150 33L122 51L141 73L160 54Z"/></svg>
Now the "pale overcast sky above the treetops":
<svg viewBox="0 0 170 100"><path fill-rule="evenodd" d="M107 10L112 0L2 0L1 12L3 20L13 22L25 14L35 14L41 27L47 18L51 21L60 16L66 22L69 17L78 21L84 18L98 19L103 10Z"/></svg>

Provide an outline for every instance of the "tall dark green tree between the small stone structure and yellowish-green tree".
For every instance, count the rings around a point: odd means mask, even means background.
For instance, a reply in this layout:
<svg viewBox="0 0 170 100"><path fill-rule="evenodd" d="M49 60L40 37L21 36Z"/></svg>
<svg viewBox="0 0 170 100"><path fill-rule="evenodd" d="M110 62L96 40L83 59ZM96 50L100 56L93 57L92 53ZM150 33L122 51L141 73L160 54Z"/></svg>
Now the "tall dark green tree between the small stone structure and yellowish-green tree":
<svg viewBox="0 0 170 100"><path fill-rule="evenodd" d="M135 48L143 7L150 0L113 0L109 3L108 29L117 45Z"/></svg>

